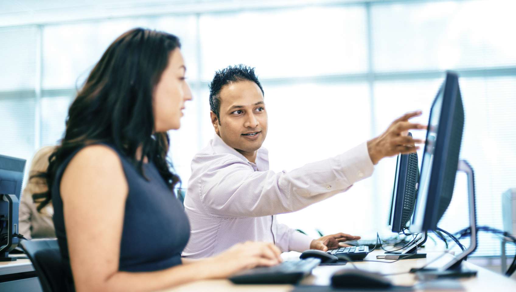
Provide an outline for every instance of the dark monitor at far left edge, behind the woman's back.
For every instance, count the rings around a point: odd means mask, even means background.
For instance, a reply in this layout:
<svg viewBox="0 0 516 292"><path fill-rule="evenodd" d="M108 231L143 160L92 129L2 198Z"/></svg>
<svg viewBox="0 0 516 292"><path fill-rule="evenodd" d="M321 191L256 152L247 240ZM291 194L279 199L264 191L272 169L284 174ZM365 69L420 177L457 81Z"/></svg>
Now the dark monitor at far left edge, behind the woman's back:
<svg viewBox="0 0 516 292"><path fill-rule="evenodd" d="M9 252L18 246L18 209L25 159L0 155L0 262L14 261Z"/></svg>

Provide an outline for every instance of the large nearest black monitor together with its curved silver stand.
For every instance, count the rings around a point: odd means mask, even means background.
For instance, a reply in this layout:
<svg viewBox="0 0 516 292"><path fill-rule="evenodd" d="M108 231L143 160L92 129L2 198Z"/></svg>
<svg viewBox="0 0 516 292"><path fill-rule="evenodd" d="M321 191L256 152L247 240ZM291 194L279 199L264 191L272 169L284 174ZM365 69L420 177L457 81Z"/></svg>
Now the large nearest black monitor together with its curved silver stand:
<svg viewBox="0 0 516 292"><path fill-rule="evenodd" d="M422 279L436 277L471 277L476 271L462 269L461 262L476 249L475 180L473 169L465 160L459 160L464 107L459 88L459 78L446 72L446 79L439 89L430 109L428 131L417 201L410 224L410 232L426 232L437 229L437 224L448 208L455 187L457 170L468 177L468 200L471 228L470 246L439 268L425 268L417 274Z"/></svg>

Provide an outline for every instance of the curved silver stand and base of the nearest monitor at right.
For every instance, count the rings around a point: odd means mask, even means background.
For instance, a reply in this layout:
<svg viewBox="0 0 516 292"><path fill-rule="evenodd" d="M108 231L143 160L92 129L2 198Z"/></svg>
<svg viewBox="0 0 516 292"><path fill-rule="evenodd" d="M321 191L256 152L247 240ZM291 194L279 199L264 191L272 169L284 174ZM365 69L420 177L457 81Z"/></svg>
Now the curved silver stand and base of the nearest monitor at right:
<svg viewBox="0 0 516 292"><path fill-rule="evenodd" d="M437 278L462 278L474 277L477 271L461 267L462 261L466 256L470 255L477 248L477 215L475 209L475 176L473 169L466 160L459 160L457 171L463 171L467 175L467 197L469 205L469 219L471 229L470 246L462 253L454 257L450 262L443 267L437 269L424 268L414 269L417 277L421 280L431 280Z"/></svg>

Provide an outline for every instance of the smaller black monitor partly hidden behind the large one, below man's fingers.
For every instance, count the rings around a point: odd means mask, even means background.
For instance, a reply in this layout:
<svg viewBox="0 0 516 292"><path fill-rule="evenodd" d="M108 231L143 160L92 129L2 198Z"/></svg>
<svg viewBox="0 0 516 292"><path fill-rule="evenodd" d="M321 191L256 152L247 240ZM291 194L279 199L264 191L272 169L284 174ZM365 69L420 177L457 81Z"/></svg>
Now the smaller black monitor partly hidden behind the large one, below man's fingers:
<svg viewBox="0 0 516 292"><path fill-rule="evenodd" d="M407 228L407 222L414 211L418 175L417 153L398 155L389 217L392 232L399 233Z"/></svg>

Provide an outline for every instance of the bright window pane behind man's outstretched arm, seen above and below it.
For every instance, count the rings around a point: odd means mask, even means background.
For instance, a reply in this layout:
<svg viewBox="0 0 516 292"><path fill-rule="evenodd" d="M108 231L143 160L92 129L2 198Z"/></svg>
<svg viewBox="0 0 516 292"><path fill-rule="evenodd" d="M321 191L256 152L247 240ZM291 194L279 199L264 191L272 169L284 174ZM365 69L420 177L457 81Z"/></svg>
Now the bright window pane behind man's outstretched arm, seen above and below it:
<svg viewBox="0 0 516 292"><path fill-rule="evenodd" d="M370 100L366 83L263 84L269 127L265 147L270 169L292 170L341 154L366 141L370 131ZM373 229L373 217L355 216L349 206L372 206L372 181L291 214L278 221L313 234ZM332 216L329 220L327 216ZM347 216L350 215L351 216ZM341 218L342 220L338 219Z"/></svg>

